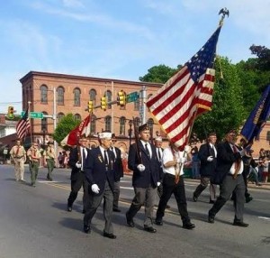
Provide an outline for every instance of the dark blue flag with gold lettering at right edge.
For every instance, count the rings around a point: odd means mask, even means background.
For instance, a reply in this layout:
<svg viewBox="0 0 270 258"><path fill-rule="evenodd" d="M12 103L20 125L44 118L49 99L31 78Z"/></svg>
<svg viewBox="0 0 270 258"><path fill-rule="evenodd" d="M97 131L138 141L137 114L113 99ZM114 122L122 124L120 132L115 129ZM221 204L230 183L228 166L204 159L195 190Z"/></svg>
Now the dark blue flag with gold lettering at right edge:
<svg viewBox="0 0 270 258"><path fill-rule="evenodd" d="M252 110L244 124L241 135L247 141L252 143L253 140L261 133L262 128L266 124L266 120L270 113L270 85L266 87L262 97Z"/></svg>

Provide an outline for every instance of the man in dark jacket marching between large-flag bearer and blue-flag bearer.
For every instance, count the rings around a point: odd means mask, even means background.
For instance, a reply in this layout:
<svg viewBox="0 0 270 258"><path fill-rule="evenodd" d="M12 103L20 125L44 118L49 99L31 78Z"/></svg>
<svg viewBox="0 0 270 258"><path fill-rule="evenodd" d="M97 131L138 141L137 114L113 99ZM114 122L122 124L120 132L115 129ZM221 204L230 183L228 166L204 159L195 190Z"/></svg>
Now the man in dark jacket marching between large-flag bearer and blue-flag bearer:
<svg viewBox="0 0 270 258"><path fill-rule="evenodd" d="M217 135L211 133L208 135L208 143L201 145L199 150L199 159L201 161L200 174L201 183L193 192L193 201L197 201L202 191L206 189L210 183L210 203L216 200L216 185L211 183L211 178L214 175L217 164L217 150L215 143L217 142Z"/></svg>

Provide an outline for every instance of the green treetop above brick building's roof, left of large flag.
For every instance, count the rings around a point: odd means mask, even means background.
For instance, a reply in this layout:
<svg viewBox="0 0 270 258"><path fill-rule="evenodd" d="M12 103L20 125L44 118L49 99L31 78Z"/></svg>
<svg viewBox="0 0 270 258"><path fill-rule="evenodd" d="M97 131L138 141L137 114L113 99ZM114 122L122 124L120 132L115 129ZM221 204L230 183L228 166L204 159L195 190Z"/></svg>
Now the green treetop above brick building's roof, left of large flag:
<svg viewBox="0 0 270 258"><path fill-rule="evenodd" d="M148 69L148 73L143 77L139 77L140 81L166 83L176 71L181 69L182 66L178 65L177 69L169 68L166 65L158 65Z"/></svg>

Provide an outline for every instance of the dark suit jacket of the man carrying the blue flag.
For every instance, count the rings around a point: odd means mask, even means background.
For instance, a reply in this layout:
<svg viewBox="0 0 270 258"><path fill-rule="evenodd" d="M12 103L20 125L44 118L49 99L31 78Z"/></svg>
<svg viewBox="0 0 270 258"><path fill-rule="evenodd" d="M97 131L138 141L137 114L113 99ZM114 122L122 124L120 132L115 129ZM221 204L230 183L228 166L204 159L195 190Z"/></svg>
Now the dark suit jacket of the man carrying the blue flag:
<svg viewBox="0 0 270 258"><path fill-rule="evenodd" d="M220 143L218 145L218 160L214 177L212 179L213 184L221 184L225 176L229 174L229 170L232 164L241 159L239 152L234 153L228 142Z"/></svg>

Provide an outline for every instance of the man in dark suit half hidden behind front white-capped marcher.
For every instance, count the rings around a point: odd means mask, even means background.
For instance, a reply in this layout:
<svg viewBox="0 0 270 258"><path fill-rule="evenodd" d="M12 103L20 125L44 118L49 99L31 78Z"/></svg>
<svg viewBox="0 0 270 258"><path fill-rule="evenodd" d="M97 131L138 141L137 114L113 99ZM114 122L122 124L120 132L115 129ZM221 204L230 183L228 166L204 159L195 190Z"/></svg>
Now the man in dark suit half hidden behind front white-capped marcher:
<svg viewBox="0 0 270 258"><path fill-rule="evenodd" d="M112 134L112 146L111 151L114 155L114 189L113 189L113 208L114 212L121 212L118 207L119 196L120 196L120 179L123 177L123 167L121 162L121 150L114 146L116 143L115 134Z"/></svg>

